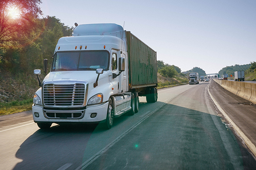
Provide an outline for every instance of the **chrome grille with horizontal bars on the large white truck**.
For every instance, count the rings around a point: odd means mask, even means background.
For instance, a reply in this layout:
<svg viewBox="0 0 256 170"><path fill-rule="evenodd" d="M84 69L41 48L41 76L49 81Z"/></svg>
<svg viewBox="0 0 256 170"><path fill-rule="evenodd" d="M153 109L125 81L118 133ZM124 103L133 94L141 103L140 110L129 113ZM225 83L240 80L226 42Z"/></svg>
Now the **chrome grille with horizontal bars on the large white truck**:
<svg viewBox="0 0 256 170"><path fill-rule="evenodd" d="M84 104L85 85L44 85L44 105L80 106Z"/></svg>

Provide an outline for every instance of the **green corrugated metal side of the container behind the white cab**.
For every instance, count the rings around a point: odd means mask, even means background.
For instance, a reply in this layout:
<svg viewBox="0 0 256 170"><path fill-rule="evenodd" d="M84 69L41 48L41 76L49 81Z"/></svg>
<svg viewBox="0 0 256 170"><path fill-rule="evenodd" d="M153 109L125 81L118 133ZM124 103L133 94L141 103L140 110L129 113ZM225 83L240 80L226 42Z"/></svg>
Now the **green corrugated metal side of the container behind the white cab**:
<svg viewBox="0 0 256 170"><path fill-rule="evenodd" d="M131 88L157 84L157 52L126 31Z"/></svg>

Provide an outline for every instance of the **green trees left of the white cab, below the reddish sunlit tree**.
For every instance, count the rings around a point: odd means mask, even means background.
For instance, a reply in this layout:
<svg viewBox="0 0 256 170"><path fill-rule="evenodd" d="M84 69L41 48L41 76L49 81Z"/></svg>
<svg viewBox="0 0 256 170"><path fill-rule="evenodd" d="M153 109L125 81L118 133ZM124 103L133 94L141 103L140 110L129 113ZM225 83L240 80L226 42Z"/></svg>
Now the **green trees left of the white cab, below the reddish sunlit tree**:
<svg viewBox="0 0 256 170"><path fill-rule="evenodd" d="M55 45L60 37L71 35L72 28L64 26L58 18L49 17L37 19L37 28L31 29L26 36L30 37L29 44L1 50L0 70L16 74L21 72L31 74L34 69L43 69L43 59L52 62Z"/></svg>

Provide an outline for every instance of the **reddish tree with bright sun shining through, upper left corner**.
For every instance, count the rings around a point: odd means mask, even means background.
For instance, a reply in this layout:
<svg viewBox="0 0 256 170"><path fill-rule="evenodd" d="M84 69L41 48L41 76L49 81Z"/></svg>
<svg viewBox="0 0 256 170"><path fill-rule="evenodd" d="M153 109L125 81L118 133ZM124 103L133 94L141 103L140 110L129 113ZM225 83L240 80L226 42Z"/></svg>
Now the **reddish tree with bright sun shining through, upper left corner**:
<svg viewBox="0 0 256 170"><path fill-rule="evenodd" d="M0 1L0 49L25 45L31 39L26 37L28 31L37 27L36 20L42 11L41 0L1 0ZM38 35L35 35L37 37ZM31 38L31 37L30 37ZM34 37L32 37L33 39Z"/></svg>

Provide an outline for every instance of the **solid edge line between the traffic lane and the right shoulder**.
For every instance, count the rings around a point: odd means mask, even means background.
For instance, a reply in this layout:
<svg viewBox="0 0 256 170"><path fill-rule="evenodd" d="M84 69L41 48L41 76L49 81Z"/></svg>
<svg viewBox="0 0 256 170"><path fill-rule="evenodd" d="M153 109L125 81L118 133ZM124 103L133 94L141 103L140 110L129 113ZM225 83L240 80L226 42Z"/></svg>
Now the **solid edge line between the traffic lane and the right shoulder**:
<svg viewBox="0 0 256 170"><path fill-rule="evenodd" d="M214 104L218 108L218 110L227 119L229 124L233 126L234 130L236 131L236 133L241 137L241 139L243 139L244 143L247 145L247 147L249 147L249 149L251 150L253 155L256 156L256 147L253 144L253 142L251 142L250 139L242 132L242 130L232 121L232 119L230 119L230 117L227 116L227 113L221 108L221 106L218 104L218 102L214 99L214 97L210 93L209 86L208 86L208 92L209 92L210 97L212 98L212 101L214 102Z"/></svg>

